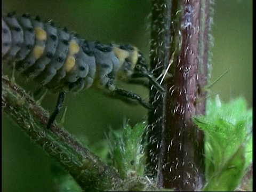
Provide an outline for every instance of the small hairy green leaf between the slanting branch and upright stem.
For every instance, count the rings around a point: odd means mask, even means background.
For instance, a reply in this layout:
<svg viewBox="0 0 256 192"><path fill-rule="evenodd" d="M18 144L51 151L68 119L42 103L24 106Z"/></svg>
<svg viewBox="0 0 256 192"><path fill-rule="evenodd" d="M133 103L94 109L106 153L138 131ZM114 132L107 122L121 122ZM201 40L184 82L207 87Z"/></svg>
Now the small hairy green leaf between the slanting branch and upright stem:
<svg viewBox="0 0 256 192"><path fill-rule="evenodd" d="M145 169L145 143L142 135L145 132L146 123L140 123L133 128L126 124L122 133L111 130L109 144L114 166L123 178L132 175L143 176Z"/></svg>

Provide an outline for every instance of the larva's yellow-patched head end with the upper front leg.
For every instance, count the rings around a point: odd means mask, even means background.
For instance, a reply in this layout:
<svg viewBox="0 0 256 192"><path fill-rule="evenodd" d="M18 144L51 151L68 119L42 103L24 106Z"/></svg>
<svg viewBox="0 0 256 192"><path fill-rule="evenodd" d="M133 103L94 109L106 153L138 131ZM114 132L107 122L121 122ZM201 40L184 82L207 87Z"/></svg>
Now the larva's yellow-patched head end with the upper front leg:
<svg viewBox="0 0 256 192"><path fill-rule="evenodd" d="M129 44L114 45L114 53L121 63L118 71L119 79L146 77L156 89L165 92L149 70L145 57L137 47Z"/></svg>

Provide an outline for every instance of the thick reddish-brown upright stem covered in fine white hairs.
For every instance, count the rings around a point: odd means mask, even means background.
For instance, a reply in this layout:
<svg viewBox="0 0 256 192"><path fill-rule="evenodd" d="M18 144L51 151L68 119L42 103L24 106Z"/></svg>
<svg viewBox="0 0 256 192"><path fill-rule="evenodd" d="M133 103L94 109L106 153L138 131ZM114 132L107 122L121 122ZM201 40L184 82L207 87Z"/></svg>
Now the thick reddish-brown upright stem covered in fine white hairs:
<svg viewBox="0 0 256 192"><path fill-rule="evenodd" d="M204 134L191 117L205 114L212 0L152 0L151 68L166 93L150 90L148 172L159 187L200 190Z"/></svg>

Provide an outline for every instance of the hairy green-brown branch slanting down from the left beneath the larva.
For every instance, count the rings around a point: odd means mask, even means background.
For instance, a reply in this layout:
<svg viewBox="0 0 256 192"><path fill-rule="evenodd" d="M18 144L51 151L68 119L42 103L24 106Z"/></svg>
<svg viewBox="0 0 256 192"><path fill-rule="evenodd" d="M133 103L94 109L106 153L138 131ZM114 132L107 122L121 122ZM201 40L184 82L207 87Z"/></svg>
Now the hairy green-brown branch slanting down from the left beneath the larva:
<svg viewBox="0 0 256 192"><path fill-rule="evenodd" d="M67 131L55 125L46 130L49 114L24 90L3 76L2 110L67 170L84 191L106 190L122 181L116 170L103 163Z"/></svg>

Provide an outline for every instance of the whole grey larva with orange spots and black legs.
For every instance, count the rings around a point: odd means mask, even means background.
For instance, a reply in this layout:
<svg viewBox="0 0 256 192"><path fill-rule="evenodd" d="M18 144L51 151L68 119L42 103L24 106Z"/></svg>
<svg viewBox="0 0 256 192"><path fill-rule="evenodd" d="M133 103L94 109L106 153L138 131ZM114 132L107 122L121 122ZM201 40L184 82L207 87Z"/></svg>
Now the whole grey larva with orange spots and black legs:
<svg viewBox="0 0 256 192"><path fill-rule="evenodd" d="M129 44L87 42L66 28L54 27L39 17L2 15L2 60L14 63L15 69L53 92L59 92L49 129L57 117L68 91L89 89L92 85L115 95L137 101L145 108L149 103L139 95L115 86L117 79L126 83L146 77L158 89L142 53Z"/></svg>

